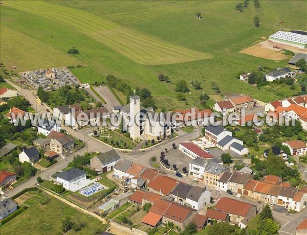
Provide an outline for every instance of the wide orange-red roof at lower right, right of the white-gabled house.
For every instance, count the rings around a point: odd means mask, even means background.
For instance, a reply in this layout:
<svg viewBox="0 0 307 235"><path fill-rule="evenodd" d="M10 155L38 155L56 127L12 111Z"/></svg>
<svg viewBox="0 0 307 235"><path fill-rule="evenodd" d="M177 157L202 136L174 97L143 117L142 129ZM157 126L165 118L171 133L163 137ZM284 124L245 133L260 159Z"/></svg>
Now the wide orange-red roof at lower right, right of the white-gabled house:
<svg viewBox="0 0 307 235"><path fill-rule="evenodd" d="M246 217L252 206L255 205L223 197L216 203L215 209L228 214Z"/></svg>

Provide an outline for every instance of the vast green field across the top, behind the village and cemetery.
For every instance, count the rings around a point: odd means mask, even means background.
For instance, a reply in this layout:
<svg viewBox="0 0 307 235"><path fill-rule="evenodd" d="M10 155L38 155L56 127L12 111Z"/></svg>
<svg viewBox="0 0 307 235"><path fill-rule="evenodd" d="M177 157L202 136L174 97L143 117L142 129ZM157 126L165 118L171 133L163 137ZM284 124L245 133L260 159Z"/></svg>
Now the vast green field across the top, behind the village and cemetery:
<svg viewBox="0 0 307 235"><path fill-rule="evenodd" d="M241 70L255 70L257 66L287 65L287 60L261 59L238 51L281 27L306 30L305 1L261 1L260 11L250 1L242 13L234 10L239 1L2 3L3 38L10 37L7 35L10 32L25 35L30 40L27 44L35 43L35 50L41 52L41 48L48 48L60 53L62 66L84 65L71 69L82 82L105 81L105 74L113 74L127 81L131 88L147 87L159 108L200 106L198 98L202 92L215 95L212 82L217 83L222 93L247 93L264 102L281 98L280 91L284 97L297 92L288 86L278 92L265 87L258 90L238 81L235 75ZM196 20L196 12L201 12L204 18ZM253 25L256 14L261 21L259 28ZM279 26L281 21L283 24ZM72 46L80 54L66 54ZM1 43L2 54L6 55L1 60L8 67L16 65L19 71L50 67L52 63L58 66L61 61L53 61L52 53L43 57L39 52L35 58L25 59L31 49L9 48ZM44 60L33 61L40 58ZM160 73L168 75L171 83L158 81ZM191 93L186 93L187 103L175 99L175 85L181 79L188 85L191 81L202 82L203 89L191 88Z"/></svg>

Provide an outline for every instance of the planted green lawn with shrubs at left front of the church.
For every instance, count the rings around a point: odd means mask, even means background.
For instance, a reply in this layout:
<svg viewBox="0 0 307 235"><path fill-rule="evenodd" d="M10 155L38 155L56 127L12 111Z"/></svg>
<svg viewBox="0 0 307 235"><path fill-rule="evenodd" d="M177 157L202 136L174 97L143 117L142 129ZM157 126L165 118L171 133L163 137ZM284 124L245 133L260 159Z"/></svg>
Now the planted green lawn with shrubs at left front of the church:
<svg viewBox="0 0 307 235"><path fill-rule="evenodd" d="M104 131L104 133L95 136L95 138L115 148L133 149L136 147L136 144L132 140L112 130ZM118 145L116 143L118 143Z"/></svg>

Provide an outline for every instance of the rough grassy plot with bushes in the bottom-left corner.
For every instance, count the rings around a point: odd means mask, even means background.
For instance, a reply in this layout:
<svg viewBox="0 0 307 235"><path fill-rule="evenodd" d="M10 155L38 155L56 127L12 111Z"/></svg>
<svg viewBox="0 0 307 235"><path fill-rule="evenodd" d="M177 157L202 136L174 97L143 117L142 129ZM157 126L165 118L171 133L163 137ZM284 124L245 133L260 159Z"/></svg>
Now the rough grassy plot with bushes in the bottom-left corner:
<svg viewBox="0 0 307 235"><path fill-rule="evenodd" d="M73 222L80 221L85 224L80 231L71 230L69 234L101 233L107 227L98 219L83 214L45 193L31 192L29 195L31 198L25 202L29 208L2 225L1 234L21 234L25 232L25 228L31 231L31 234L61 234L62 221L66 217L70 217ZM47 204L39 203L41 199L47 199Z"/></svg>

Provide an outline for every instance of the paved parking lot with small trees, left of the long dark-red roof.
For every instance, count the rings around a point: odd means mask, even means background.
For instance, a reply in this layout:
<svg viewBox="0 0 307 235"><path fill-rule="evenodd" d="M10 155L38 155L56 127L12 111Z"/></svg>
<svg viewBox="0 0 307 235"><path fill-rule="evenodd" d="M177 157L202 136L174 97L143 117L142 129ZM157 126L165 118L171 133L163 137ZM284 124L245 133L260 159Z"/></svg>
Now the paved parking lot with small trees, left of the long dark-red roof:
<svg viewBox="0 0 307 235"><path fill-rule="evenodd" d="M173 165L176 164L178 170L183 173L182 168L186 167L187 171L189 171L189 162L192 158L185 155L178 149L171 149L167 153L164 152L165 158L168 160L170 168L173 168Z"/></svg>

